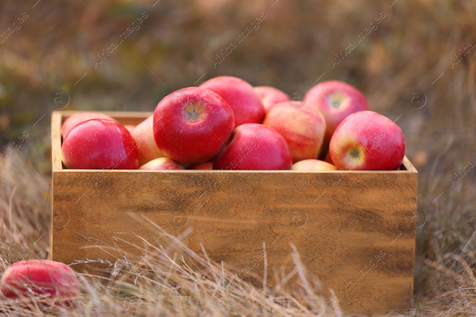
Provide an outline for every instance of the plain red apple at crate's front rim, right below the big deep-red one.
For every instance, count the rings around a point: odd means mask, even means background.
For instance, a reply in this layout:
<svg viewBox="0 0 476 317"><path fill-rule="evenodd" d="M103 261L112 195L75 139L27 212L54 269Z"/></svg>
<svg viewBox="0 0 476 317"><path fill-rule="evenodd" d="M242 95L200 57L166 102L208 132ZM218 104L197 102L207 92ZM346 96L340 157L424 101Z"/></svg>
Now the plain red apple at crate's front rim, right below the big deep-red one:
<svg viewBox="0 0 476 317"><path fill-rule="evenodd" d="M286 140L266 125L238 125L213 160L214 170L290 170Z"/></svg>

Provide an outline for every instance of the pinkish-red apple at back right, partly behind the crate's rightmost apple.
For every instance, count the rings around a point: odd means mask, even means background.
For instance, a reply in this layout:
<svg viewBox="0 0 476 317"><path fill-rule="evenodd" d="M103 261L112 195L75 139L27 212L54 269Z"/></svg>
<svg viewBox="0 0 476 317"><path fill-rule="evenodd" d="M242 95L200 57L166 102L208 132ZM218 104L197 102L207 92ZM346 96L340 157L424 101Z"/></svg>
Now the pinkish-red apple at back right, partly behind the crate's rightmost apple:
<svg viewBox="0 0 476 317"><path fill-rule="evenodd" d="M315 107L326 118L326 142L347 115L368 110L364 95L356 87L338 80L327 80L313 86L303 102Z"/></svg>

